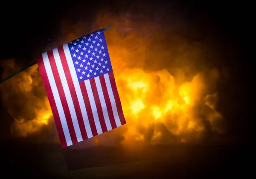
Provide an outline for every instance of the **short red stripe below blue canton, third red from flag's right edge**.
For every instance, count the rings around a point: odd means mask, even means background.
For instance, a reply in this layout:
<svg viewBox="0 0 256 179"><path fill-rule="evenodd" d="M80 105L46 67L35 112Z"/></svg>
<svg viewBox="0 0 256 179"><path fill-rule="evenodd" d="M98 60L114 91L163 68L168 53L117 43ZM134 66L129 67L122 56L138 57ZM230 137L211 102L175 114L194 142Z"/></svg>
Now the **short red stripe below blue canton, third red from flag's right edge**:
<svg viewBox="0 0 256 179"><path fill-rule="evenodd" d="M107 130L104 115L103 115L103 112L102 112L102 107L101 107L100 100L99 100L99 94L98 94L98 90L97 90L94 78L90 78L90 85L91 85L91 88L92 88L92 91L93 91L93 97L94 97L94 101L95 101L98 116L99 116L99 123L102 127L102 132L105 133L108 130Z"/></svg>

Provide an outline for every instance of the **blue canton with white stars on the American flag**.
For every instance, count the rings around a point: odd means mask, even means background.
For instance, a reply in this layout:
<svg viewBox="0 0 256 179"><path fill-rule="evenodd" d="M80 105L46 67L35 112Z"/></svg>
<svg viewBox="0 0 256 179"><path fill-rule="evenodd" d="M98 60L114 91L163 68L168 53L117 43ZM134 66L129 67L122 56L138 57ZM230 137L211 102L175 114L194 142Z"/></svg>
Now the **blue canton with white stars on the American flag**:
<svg viewBox="0 0 256 179"><path fill-rule="evenodd" d="M112 72L103 29L68 43L78 81Z"/></svg>

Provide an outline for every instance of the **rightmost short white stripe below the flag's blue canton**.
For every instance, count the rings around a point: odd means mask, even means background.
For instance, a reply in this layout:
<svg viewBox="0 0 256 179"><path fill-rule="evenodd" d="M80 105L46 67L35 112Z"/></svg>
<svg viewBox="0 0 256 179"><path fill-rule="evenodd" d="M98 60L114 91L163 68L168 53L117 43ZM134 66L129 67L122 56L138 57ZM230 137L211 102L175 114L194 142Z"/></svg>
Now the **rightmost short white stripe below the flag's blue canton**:
<svg viewBox="0 0 256 179"><path fill-rule="evenodd" d="M110 99L112 110L113 110L113 115L114 115L114 118L115 118L115 121L116 121L116 126L119 127L119 126L121 126L121 121L119 119L119 115L118 115L118 112L117 112L116 101L115 101L115 98L114 98L114 94L113 94L113 91L112 91L112 87L111 87L111 83L110 83L110 80L109 80L108 73L104 74L104 78L105 78L105 82L106 82L106 86L107 86L107 90L108 90L108 95L109 95L109 99Z"/></svg>

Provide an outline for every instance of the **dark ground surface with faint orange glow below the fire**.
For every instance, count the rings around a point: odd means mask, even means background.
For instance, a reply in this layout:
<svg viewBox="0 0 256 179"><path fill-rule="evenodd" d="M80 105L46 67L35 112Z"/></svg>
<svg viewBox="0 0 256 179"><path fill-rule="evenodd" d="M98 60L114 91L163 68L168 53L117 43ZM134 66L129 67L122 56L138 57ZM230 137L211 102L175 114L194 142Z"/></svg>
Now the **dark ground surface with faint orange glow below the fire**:
<svg viewBox="0 0 256 179"><path fill-rule="evenodd" d="M154 145L127 151L64 150L19 140L2 144L3 178L249 178L253 168L252 146L245 145Z"/></svg>

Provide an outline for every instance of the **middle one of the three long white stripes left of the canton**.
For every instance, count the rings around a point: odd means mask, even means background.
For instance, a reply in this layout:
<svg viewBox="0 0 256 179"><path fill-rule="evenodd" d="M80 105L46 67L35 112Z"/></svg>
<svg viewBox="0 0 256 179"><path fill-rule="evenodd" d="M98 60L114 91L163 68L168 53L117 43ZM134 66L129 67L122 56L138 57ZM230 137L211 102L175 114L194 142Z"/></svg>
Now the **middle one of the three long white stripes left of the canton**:
<svg viewBox="0 0 256 179"><path fill-rule="evenodd" d="M77 121L76 110L75 110L73 100L72 100L72 97L71 97L71 94L70 94L70 90L69 90L69 87L68 87L68 84L67 84L67 78L65 76L63 66L61 64L61 58L60 58L60 55L58 53L58 49L55 48L55 49L52 50L52 52L53 52L53 56L54 56L54 59L55 59L55 62L56 62L56 66L57 66L57 69L58 69L59 76L61 78L61 84L62 84L62 87L63 87L63 90L64 90L64 94L65 94L65 97L67 99L67 105L68 105L68 108L70 110L70 115L71 115L71 118L72 118L72 121L73 121L73 126L74 126L74 129L75 129L76 138L77 138L77 141L79 142L79 141L82 141L83 138L82 138L80 127L79 127L79 124L78 124L78 121Z"/></svg>

